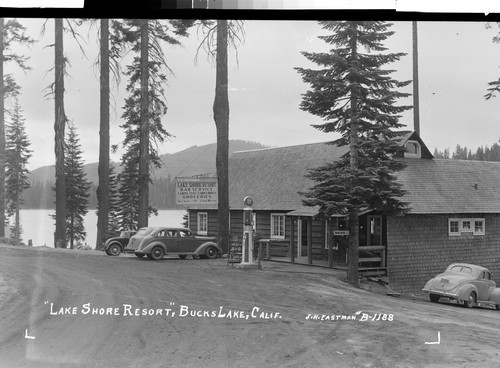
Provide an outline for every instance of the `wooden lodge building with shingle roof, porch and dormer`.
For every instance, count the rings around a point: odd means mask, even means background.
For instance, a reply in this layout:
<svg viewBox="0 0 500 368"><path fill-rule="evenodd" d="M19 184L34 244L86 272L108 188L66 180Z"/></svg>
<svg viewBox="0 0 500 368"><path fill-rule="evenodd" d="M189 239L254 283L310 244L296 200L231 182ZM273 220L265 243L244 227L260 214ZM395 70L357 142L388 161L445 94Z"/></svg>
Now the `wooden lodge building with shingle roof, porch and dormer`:
<svg viewBox="0 0 500 368"><path fill-rule="evenodd" d="M452 262L487 267L500 282L500 163L436 159L409 132L405 169L397 173L405 215L359 218L360 273L387 275L391 288L420 290ZM308 169L339 159L347 147L326 143L235 152L229 160L231 236L243 234L243 198L254 200L254 230L272 260L347 266L345 217L321 218L299 194L312 187ZM216 206L188 207L190 228L216 235Z"/></svg>

